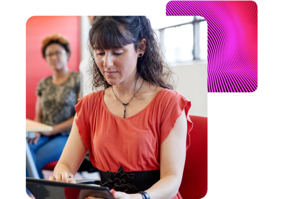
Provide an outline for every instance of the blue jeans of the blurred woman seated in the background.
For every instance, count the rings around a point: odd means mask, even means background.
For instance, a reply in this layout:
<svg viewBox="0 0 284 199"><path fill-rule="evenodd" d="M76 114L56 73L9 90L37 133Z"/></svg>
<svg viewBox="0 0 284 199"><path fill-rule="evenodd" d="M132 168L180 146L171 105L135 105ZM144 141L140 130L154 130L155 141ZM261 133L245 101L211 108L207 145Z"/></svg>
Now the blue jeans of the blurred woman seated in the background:
<svg viewBox="0 0 284 199"><path fill-rule="evenodd" d="M32 156L40 179L43 179L42 167L53 161L58 161L69 136L44 136L42 135L36 145L30 145ZM30 177L26 167L26 177ZM27 192L26 188L26 192ZM30 193L29 191L27 193Z"/></svg>

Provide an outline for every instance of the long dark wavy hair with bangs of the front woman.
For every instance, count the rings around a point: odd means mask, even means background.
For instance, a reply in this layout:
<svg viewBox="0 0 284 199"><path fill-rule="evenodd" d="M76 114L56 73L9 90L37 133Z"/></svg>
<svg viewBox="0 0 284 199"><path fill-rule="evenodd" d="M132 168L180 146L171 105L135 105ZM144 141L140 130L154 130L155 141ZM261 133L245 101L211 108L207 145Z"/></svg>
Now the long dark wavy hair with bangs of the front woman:
<svg viewBox="0 0 284 199"><path fill-rule="evenodd" d="M146 39L146 48L144 49L144 46L141 45L143 38ZM89 31L92 89L97 90L101 86L107 89L111 86L96 64L93 50L122 48L131 43L134 44L136 52L138 49L145 50L143 56L137 60L135 87L139 76L141 76L157 86L175 90L173 72L164 62L158 37L152 29L150 20L145 16L95 16L93 18Z"/></svg>

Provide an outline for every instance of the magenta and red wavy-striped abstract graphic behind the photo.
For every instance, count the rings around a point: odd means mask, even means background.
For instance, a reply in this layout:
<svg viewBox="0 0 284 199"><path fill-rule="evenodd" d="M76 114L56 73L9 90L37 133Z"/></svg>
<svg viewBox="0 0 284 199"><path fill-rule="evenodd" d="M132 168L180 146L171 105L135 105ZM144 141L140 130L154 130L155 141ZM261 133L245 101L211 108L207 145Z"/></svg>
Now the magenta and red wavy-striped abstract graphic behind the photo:
<svg viewBox="0 0 284 199"><path fill-rule="evenodd" d="M208 92L258 88L258 7L253 0L170 0L166 16L208 24Z"/></svg>

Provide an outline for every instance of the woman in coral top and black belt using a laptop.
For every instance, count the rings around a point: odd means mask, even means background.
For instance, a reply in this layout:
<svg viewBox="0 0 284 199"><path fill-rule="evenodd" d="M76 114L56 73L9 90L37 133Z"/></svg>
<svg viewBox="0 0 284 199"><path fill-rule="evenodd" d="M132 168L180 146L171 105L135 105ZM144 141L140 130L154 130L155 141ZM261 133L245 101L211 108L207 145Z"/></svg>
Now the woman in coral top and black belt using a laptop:
<svg viewBox="0 0 284 199"><path fill-rule="evenodd" d="M93 88L105 90L79 99L70 138L50 180L75 183L89 150L101 185L113 198L181 199L191 103L174 91L149 19L96 16L89 50Z"/></svg>

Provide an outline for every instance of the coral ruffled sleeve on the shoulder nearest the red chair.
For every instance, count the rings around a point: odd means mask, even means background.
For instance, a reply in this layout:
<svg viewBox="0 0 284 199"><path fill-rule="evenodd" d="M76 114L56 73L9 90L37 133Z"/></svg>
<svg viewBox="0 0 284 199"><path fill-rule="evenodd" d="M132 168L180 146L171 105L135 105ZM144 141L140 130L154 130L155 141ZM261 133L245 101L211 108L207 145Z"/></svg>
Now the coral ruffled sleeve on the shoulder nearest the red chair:
<svg viewBox="0 0 284 199"><path fill-rule="evenodd" d="M183 109L187 118L187 136L186 136L186 150L190 145L189 132L193 127L188 111L191 107L191 102L183 95L176 91L170 90L163 96L163 103L160 107L160 145L168 137L171 130L176 124L177 118L181 115Z"/></svg>

